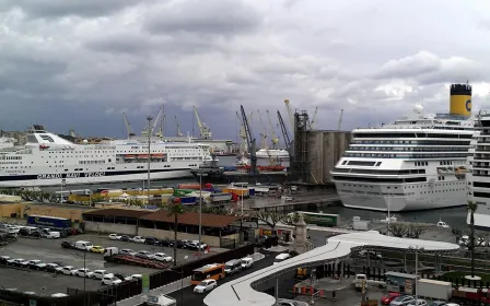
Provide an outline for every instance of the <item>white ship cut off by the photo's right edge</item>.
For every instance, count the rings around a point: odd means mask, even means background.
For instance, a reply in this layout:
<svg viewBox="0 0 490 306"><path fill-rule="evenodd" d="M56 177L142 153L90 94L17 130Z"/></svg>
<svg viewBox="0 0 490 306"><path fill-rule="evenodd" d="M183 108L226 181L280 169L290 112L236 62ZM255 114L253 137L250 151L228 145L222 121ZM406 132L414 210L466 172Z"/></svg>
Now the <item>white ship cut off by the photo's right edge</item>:
<svg viewBox="0 0 490 306"><path fill-rule="evenodd" d="M475 129L475 146L468 156L468 200L477 204L475 225L490 227L490 110L478 114ZM469 219L468 212L467 224Z"/></svg>

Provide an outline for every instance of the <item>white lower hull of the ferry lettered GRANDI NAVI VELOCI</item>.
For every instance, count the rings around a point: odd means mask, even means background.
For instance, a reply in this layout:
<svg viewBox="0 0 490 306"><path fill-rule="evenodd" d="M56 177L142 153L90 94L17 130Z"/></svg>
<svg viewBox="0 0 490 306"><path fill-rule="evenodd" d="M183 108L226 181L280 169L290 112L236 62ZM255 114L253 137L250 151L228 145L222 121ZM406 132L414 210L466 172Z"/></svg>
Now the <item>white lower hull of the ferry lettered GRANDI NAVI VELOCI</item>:
<svg viewBox="0 0 490 306"><path fill-rule="evenodd" d="M152 169L151 179L164 180L191 177L190 169ZM93 172L59 175L16 175L0 177L0 188L47 187L65 185L88 185L102 183L141 181L148 178L148 170ZM65 180L65 181L63 181Z"/></svg>

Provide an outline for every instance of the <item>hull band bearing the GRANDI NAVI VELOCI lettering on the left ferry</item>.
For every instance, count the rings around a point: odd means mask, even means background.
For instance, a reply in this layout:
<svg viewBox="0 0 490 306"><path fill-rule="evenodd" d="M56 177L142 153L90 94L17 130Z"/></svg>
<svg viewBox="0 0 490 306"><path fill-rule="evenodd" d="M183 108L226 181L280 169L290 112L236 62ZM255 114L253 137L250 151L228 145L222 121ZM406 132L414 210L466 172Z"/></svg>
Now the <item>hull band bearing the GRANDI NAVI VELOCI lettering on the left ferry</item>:
<svg viewBox="0 0 490 306"><path fill-rule="evenodd" d="M190 169L152 169L151 179L176 179L192 177ZM128 174L115 174L107 172L101 176L80 176L69 178L43 178L37 179L37 176L33 176L33 179L12 179L0 181L0 188L5 187L47 187L47 186L60 186L65 179L65 185L88 185L88 184L101 184L101 183L120 183L120 181L141 181L148 178L148 172L128 173Z"/></svg>

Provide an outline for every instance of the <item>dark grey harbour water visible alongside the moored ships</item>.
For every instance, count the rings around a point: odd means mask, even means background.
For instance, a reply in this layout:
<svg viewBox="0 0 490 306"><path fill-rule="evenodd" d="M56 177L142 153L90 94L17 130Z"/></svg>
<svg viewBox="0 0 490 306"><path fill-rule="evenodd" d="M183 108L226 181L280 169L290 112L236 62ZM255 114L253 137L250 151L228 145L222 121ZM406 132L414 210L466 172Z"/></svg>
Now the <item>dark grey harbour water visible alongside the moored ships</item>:
<svg viewBox="0 0 490 306"><path fill-rule="evenodd" d="M219 156L218 164L220 166L233 166L237 157L236 156ZM267 165L268 161L260 158L257 161L259 165ZM281 165L289 167L288 161L282 161ZM183 179L171 179L171 180L152 180L152 188L158 187L175 187L178 184L186 183L195 183L192 177L183 178ZM132 183L117 183L117 184L103 184L103 185L84 185L84 186L67 186L68 190L77 190L77 189L97 189L97 188L145 188L147 181L132 181ZM44 187L42 188L45 191L59 191L60 187ZM348 209L343 207L328 207L324 209L319 209L324 213L334 213L339 214L343 220L350 220L352 216L360 216L362 220L382 220L387 216L384 212L369 211L369 210L354 210ZM406 222L428 222L428 223L438 223L438 221L442 220L446 222L451 227L459 227L463 228L466 226L466 208L451 208L451 209L441 209L441 210L431 210L431 211L413 211L413 212L396 212L392 213L399 221Z"/></svg>

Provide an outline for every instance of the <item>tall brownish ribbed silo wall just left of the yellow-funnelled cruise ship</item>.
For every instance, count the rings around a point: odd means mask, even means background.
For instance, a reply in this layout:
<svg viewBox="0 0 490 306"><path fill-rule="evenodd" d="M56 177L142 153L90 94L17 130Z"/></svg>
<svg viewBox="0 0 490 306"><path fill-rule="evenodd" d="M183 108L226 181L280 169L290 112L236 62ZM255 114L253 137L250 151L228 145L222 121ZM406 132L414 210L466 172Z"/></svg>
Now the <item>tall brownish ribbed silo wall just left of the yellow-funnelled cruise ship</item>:
<svg viewBox="0 0 490 306"><path fill-rule="evenodd" d="M310 131L308 156L311 181L330 184L330 170L334 169L343 152L349 148L351 132L347 131Z"/></svg>

